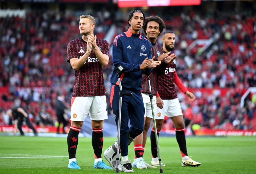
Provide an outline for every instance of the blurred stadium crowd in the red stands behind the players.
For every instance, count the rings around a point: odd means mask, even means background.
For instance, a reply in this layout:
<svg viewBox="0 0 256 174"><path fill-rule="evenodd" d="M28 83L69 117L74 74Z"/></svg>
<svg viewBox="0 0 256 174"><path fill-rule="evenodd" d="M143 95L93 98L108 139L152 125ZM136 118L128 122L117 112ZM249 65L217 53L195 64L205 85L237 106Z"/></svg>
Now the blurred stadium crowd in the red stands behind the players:
<svg viewBox="0 0 256 174"><path fill-rule="evenodd" d="M102 10L90 14L97 24L94 34L104 38L111 25L117 27L116 33L126 31L126 19L113 18L118 13ZM176 34L177 73L196 100L189 103L179 89L178 98L185 117L187 108L191 107L194 124L216 129L256 129L256 101L246 98L248 102L240 107L244 90L256 87L254 13L250 10L240 15L216 12L208 17L193 10L171 16L166 11L146 12L148 16L161 16L166 29ZM66 96L69 107L75 72L65 60L68 41L80 37L78 17L71 12L31 10L25 18L0 18L0 88L8 88L7 92L0 92L1 125L12 124L6 111L17 98L37 125L55 125L54 108L60 93ZM196 39L210 38L213 43L205 51L199 44L189 49ZM159 44L162 45L160 39ZM109 116L113 114L109 103L111 71L110 55L108 66L103 68ZM202 92L201 89L218 90ZM226 92L220 92L222 89ZM172 126L167 119L165 127Z"/></svg>

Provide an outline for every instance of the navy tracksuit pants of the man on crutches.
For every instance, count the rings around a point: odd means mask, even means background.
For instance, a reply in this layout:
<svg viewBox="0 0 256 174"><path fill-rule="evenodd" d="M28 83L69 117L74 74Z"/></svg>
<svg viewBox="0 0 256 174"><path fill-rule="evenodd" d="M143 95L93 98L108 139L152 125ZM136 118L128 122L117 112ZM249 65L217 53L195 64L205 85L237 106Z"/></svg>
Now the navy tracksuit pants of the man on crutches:
<svg viewBox="0 0 256 174"><path fill-rule="evenodd" d="M120 88L118 85L111 84L111 97L110 104L114 113L115 123L118 126L119 116L119 92ZM121 127L120 127L120 149L121 156L128 155L128 137L129 132L131 138L137 137L143 132L144 128L144 114L145 108L141 91L131 91L123 88L123 92L132 92L132 96L122 97L122 108L121 108ZM130 119L131 127L129 128L128 122Z"/></svg>

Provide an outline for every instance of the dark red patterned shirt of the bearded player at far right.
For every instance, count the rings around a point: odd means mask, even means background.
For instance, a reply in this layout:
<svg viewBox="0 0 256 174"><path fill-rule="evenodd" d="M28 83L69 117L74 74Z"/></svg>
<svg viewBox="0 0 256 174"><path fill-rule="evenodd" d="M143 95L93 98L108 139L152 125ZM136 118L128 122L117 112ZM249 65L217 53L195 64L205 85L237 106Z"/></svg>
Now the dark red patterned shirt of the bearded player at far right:
<svg viewBox="0 0 256 174"><path fill-rule="evenodd" d="M171 54L173 53L174 52L171 51ZM176 59L168 64L162 62L157 68L157 90L163 100L177 98L174 84L175 69Z"/></svg>

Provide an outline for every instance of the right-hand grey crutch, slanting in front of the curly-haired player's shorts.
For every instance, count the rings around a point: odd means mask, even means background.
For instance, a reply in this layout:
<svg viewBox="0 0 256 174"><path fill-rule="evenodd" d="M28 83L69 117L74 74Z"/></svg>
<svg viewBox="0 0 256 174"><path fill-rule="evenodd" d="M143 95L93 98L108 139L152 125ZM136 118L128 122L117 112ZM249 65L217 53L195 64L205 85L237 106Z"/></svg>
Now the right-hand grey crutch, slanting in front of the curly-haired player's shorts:
<svg viewBox="0 0 256 174"><path fill-rule="evenodd" d="M158 153L158 161L159 161L159 166L160 166L160 173L163 173L163 169L162 169L162 163L161 163L161 156L160 156L160 150L159 150L159 143L158 143L158 137L157 137L157 128L156 128L156 123L155 123L155 112L154 112L154 107L153 107L153 94L151 92L151 86L150 86L150 80L149 80L149 75L147 76L147 82L149 84L149 98L150 98L150 103L151 103L151 110L152 110L152 116L153 116L153 123L154 123L154 129L155 129L155 140L157 143L157 153Z"/></svg>

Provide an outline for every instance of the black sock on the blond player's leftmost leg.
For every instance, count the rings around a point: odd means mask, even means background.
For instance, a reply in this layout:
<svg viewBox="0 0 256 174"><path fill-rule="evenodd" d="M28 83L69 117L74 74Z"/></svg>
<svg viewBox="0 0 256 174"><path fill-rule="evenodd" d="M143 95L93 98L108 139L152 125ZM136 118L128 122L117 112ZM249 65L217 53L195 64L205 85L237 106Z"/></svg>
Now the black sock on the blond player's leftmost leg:
<svg viewBox="0 0 256 174"><path fill-rule="evenodd" d="M75 158L75 153L77 152L79 132L80 131L75 131L73 129L70 129L69 134L67 135L67 148L69 151L69 159Z"/></svg>

